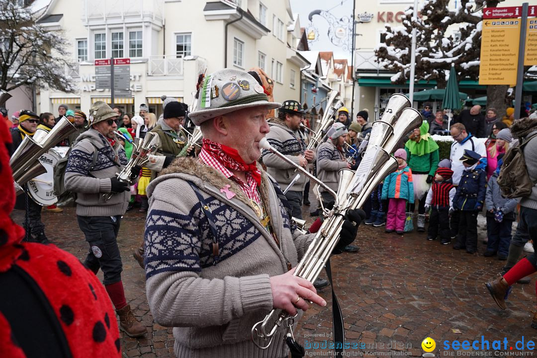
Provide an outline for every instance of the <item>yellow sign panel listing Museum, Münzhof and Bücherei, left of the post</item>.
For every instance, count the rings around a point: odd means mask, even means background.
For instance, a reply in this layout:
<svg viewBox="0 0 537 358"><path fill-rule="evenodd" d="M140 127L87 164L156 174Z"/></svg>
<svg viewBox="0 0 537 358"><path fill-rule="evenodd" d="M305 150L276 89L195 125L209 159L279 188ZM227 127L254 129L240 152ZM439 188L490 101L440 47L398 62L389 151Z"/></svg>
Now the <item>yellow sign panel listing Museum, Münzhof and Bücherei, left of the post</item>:
<svg viewBox="0 0 537 358"><path fill-rule="evenodd" d="M520 19L483 19L479 84L517 83Z"/></svg>

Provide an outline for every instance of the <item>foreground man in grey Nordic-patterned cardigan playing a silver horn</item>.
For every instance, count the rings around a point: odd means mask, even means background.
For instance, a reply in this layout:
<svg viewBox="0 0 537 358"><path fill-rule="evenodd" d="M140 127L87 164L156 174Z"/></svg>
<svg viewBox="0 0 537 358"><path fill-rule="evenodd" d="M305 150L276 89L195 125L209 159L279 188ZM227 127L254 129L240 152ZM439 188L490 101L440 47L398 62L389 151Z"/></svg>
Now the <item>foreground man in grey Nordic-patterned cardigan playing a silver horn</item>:
<svg viewBox="0 0 537 358"><path fill-rule="evenodd" d="M181 157L148 187L146 288L157 323L174 327L177 357L284 357L284 332L269 349L251 327L271 309L295 315L326 302L293 276L307 249L278 185L256 164L265 116L280 106L243 71L206 76L190 118L201 127L199 157ZM353 218L359 224L360 218ZM342 231L352 242L357 226Z"/></svg>

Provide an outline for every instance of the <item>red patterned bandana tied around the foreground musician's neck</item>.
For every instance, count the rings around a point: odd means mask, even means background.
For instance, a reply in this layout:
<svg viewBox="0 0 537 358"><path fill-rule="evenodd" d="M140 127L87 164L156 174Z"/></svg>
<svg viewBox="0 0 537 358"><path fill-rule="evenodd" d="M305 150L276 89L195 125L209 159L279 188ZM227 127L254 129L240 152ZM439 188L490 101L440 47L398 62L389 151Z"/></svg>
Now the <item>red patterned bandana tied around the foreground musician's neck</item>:
<svg viewBox="0 0 537 358"><path fill-rule="evenodd" d="M203 140L202 148L227 169L247 172L257 182L257 185L261 185L261 172L257 169L255 160L250 164L246 164L236 149L206 138Z"/></svg>

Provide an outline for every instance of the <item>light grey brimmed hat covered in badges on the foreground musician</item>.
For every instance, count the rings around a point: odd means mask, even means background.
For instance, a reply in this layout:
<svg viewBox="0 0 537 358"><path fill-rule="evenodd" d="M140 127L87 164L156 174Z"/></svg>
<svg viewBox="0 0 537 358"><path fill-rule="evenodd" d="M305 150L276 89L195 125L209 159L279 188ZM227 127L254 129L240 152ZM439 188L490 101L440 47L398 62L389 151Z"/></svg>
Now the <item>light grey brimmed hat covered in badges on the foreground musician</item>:
<svg viewBox="0 0 537 358"><path fill-rule="evenodd" d="M250 74L225 68L210 75L200 75L197 85L196 104L188 114L192 122L201 123L238 109L265 106L279 108L280 103L270 102L260 85Z"/></svg>

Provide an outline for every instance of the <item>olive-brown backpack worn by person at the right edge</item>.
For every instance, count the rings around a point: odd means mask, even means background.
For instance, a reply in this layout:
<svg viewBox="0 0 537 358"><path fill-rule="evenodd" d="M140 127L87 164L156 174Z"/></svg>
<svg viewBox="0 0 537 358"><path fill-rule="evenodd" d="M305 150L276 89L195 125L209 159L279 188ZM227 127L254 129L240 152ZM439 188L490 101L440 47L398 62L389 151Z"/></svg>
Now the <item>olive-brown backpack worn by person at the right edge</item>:
<svg viewBox="0 0 537 358"><path fill-rule="evenodd" d="M525 138L517 147L509 148L503 157L498 185L506 198L523 198L532 193L535 182L529 178L524 160L524 146L537 134Z"/></svg>

